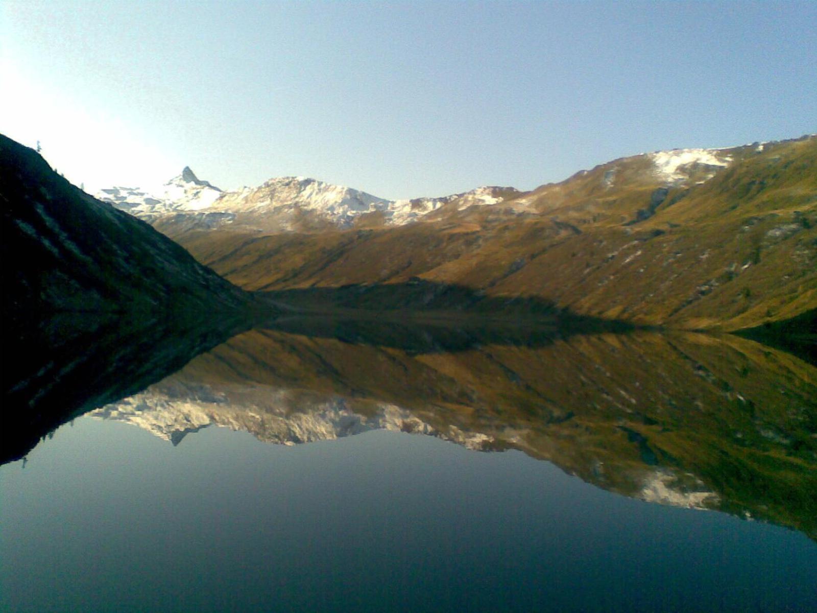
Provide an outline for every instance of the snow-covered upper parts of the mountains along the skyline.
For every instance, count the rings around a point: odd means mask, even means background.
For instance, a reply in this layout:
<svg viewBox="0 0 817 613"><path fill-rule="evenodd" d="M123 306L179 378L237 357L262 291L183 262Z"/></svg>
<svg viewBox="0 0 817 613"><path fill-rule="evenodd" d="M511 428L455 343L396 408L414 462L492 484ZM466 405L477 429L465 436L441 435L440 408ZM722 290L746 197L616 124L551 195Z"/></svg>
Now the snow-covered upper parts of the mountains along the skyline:
<svg viewBox="0 0 817 613"><path fill-rule="evenodd" d="M757 150L765 145L756 144ZM617 160L617 165L605 170L602 184L613 187L618 165L641 164L647 180L669 186L688 186L711 179L733 161L732 149L681 149L641 154L632 159ZM616 164L616 163L614 163ZM586 172L578 173L582 176ZM632 181L632 177L627 177ZM542 188L539 188L541 190ZM455 213L471 207L511 204L520 212L533 211L529 205L538 199L538 191L522 192L513 187L481 186L462 194L388 200L350 187L335 186L308 177L277 177L263 185L222 191L208 181L201 181L185 167L181 174L161 186L110 187L100 190L96 198L113 204L146 221L162 217L183 216L203 220L217 216L219 225L233 224L261 231L326 230L331 226L403 226L421 221L439 212ZM440 210L442 209L442 210Z"/></svg>

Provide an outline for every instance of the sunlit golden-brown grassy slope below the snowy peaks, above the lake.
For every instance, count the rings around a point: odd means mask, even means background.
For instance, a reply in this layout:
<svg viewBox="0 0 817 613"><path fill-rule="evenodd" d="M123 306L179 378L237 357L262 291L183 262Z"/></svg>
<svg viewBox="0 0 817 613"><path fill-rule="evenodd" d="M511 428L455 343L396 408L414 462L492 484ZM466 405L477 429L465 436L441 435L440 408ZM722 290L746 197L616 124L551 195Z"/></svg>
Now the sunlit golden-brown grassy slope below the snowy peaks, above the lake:
<svg viewBox="0 0 817 613"><path fill-rule="evenodd" d="M660 176L647 155L615 160L408 226L171 235L252 290L420 277L690 329L747 328L817 307L817 137L722 154L727 167L691 164L684 181Z"/></svg>

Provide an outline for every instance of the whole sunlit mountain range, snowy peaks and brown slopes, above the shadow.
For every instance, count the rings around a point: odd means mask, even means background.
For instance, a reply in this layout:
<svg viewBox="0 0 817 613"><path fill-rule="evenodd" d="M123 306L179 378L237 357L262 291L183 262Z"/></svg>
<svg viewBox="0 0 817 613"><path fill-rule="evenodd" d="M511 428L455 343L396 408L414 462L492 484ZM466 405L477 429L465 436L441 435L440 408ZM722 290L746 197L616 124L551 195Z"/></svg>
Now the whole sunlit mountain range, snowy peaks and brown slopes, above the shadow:
<svg viewBox="0 0 817 613"><path fill-rule="evenodd" d="M222 192L185 168L101 196L243 289L422 280L686 329L817 308L817 136L639 154L527 192L392 201L301 177Z"/></svg>

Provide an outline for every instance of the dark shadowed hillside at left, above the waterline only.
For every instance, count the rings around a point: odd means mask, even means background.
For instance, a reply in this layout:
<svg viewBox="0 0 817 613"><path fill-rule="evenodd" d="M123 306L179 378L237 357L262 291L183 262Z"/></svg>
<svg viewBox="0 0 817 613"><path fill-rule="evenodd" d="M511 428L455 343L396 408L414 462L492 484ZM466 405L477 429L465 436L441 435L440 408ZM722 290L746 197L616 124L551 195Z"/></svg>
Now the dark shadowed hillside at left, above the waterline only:
<svg viewBox="0 0 817 613"><path fill-rule="evenodd" d="M150 225L93 199L2 135L0 207L4 313L184 315L248 301Z"/></svg>

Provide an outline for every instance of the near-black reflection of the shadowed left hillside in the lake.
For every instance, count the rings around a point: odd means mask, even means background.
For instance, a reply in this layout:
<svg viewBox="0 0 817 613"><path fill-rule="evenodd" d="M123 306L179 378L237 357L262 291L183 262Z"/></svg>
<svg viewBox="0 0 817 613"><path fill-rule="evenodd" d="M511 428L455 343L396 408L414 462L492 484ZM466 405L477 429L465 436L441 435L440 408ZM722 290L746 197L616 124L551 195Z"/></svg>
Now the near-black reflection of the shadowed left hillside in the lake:
<svg viewBox="0 0 817 613"><path fill-rule="evenodd" d="M61 423L139 392L239 331L212 320L145 313L11 311L2 329L0 463L25 456Z"/></svg>

